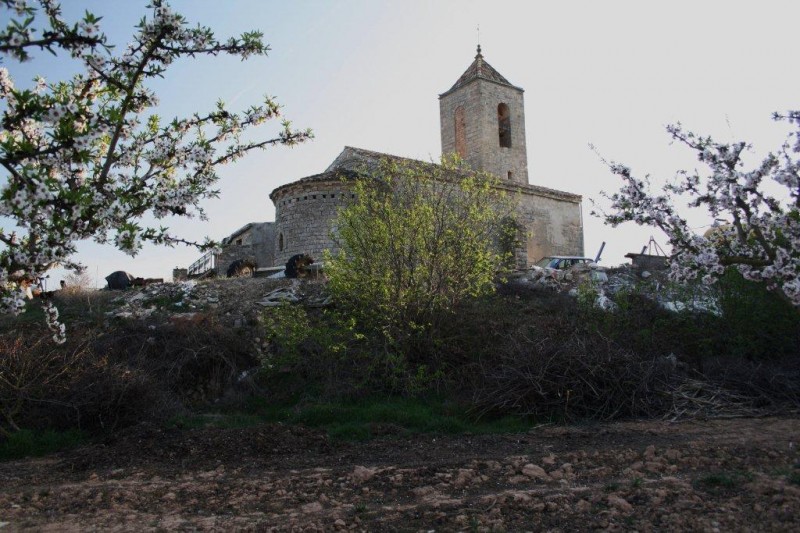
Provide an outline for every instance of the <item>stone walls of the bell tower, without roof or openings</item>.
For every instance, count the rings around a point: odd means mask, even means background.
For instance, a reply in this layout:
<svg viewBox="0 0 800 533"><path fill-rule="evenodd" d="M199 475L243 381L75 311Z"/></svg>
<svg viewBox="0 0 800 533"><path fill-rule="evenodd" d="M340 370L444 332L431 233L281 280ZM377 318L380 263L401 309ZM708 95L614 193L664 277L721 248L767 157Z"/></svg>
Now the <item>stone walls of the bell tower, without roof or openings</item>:
<svg viewBox="0 0 800 533"><path fill-rule="evenodd" d="M508 105L511 113L511 147L500 146L497 106ZM442 153L456 152L456 109L463 107L466 157L475 170L491 172L502 180L526 185L528 156L525 138L523 92L486 80L475 80L439 97Z"/></svg>

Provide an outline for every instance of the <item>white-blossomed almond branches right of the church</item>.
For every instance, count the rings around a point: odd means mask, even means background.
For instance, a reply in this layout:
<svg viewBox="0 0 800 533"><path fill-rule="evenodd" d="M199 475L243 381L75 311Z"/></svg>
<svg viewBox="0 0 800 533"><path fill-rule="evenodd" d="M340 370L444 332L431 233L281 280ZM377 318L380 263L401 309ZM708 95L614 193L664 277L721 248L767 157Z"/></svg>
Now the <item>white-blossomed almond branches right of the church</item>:
<svg viewBox="0 0 800 533"><path fill-rule="evenodd" d="M624 185L607 196L611 211L602 213L605 222L616 226L633 221L663 230L673 247L670 275L676 281L699 277L712 284L733 267L800 307L800 111L776 113L774 118L797 130L777 153L768 154L754 168L743 161L750 149L747 143L718 143L687 132L680 124L669 126L672 138L695 150L708 171L681 171L675 183L654 195L647 177L636 178L628 167L609 163ZM785 194L768 193L768 182ZM727 223L705 236L694 233L675 208L678 197Z"/></svg>

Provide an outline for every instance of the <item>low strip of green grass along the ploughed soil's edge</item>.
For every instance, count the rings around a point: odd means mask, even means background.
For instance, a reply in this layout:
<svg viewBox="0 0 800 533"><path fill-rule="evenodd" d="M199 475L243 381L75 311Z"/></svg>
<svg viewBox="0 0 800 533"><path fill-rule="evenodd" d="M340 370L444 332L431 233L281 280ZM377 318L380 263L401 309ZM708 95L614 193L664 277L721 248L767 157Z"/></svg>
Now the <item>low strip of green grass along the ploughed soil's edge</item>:
<svg viewBox="0 0 800 533"><path fill-rule="evenodd" d="M214 413L175 418L173 427L252 427L262 423L301 424L324 429L335 440L363 441L378 435L418 433L489 434L526 431L530 421L506 416L476 421L441 401L376 399L360 403L274 405L253 399L245 413Z"/></svg>

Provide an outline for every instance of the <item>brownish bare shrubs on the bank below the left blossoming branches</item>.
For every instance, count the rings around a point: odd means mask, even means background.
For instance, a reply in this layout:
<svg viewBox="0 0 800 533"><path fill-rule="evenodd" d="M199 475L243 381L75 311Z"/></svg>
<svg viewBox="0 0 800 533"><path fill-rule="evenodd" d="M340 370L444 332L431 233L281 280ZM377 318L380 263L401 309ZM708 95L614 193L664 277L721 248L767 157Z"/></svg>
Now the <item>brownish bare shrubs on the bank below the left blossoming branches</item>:
<svg viewBox="0 0 800 533"><path fill-rule="evenodd" d="M103 432L164 420L218 399L254 365L245 340L202 319L72 328L60 346L43 331L4 335L0 425Z"/></svg>

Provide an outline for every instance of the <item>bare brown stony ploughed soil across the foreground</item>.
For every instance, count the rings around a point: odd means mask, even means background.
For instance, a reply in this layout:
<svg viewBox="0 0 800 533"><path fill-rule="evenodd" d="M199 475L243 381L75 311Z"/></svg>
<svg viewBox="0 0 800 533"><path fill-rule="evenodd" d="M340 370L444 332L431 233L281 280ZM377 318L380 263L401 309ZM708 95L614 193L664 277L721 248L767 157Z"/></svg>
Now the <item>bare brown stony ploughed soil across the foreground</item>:
<svg viewBox="0 0 800 533"><path fill-rule="evenodd" d="M800 418L330 442L166 430L0 464L0 530L798 531Z"/></svg>

